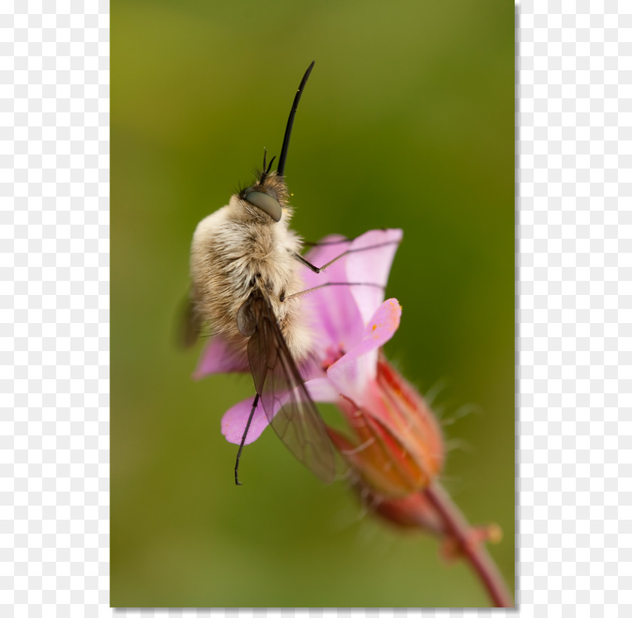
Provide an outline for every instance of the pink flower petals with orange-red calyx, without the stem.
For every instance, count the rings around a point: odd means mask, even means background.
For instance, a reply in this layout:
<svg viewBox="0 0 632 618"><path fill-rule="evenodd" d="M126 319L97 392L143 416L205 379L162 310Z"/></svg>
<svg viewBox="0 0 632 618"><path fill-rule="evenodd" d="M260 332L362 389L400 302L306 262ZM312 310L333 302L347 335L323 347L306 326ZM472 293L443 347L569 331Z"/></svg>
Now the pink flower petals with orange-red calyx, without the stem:
<svg viewBox="0 0 632 618"><path fill-rule="evenodd" d="M362 482L383 496L402 496L420 489L440 470L443 448L440 430L423 399L380 354L380 348L400 325L402 308L395 298L383 302L390 265L401 230L372 230L351 242L350 254L315 274L305 269L305 289L325 283L302 299L311 316L313 356L301 367L305 388L315 402L332 402L341 409L348 433L328 428L334 446ZM345 244L327 237L306 258L322 265L338 256ZM365 251L357 251L363 247ZM341 247L343 249L341 249ZM373 285L349 285L353 283ZM230 353L221 338L213 338L196 371L243 372L244 360ZM251 412L252 398L237 403L222 419L222 433L239 444ZM245 444L256 440L268 418L256 409Z"/></svg>

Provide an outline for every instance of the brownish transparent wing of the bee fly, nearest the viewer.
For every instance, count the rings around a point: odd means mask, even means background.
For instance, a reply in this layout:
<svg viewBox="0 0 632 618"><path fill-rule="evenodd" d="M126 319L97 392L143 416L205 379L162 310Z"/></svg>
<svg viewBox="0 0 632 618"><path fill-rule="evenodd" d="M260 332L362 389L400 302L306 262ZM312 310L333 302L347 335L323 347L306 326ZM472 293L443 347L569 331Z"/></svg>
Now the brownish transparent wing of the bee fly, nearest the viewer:
<svg viewBox="0 0 632 618"><path fill-rule="evenodd" d="M265 416L290 452L324 482L336 476L336 452L318 410L305 389L272 308L259 294L239 311L252 331L248 360Z"/></svg>

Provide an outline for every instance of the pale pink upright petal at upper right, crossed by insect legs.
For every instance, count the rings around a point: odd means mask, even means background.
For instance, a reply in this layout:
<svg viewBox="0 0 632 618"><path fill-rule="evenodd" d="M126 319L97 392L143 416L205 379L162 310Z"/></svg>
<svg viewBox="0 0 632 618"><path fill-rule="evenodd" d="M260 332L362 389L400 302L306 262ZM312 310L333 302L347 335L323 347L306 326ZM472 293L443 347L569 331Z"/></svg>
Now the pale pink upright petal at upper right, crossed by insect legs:
<svg viewBox="0 0 632 618"><path fill-rule="evenodd" d="M354 253L347 257L347 280L351 283L372 283L381 287L354 285L351 294L367 324L384 300L384 287L388 281L390 265L402 240L402 230L371 230L357 237L351 244ZM363 247L373 247L356 251Z"/></svg>

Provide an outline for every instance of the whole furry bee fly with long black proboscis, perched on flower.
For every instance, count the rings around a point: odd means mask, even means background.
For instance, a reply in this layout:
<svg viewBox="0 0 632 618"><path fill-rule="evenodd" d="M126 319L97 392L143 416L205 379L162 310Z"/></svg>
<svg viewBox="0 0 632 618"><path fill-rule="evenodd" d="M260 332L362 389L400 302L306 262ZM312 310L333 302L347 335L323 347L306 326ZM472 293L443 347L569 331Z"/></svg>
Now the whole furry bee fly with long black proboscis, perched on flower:
<svg viewBox="0 0 632 618"><path fill-rule="evenodd" d="M331 262L318 268L301 256L303 243L289 229L292 209L284 177L294 115L313 66L294 97L276 171L274 157L266 166L264 152L254 184L200 221L191 246L185 343L195 343L204 324L212 324L232 357L250 370L256 388L235 462L237 485L239 458L258 405L299 461L324 482L336 475L334 446L298 369L310 355L312 338L296 302L305 292L299 270L321 272Z"/></svg>

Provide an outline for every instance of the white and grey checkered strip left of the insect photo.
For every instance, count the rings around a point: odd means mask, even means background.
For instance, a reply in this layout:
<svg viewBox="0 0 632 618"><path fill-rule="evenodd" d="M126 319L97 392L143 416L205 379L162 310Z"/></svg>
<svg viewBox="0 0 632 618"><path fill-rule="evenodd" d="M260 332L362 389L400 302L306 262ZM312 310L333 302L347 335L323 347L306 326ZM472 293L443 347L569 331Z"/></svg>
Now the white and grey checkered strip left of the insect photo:
<svg viewBox="0 0 632 618"><path fill-rule="evenodd" d="M107 9L0 4L2 616L111 613Z"/></svg>

